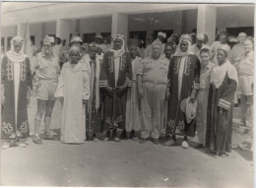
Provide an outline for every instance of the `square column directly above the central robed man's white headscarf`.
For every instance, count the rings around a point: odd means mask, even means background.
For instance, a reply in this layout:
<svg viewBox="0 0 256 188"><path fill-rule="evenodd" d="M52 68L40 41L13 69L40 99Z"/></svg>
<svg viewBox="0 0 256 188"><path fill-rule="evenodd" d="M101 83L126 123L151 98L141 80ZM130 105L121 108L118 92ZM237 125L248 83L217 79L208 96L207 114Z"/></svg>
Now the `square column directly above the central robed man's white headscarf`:
<svg viewBox="0 0 256 188"><path fill-rule="evenodd" d="M114 12L112 13L112 29L111 34L123 34L125 43L128 37L128 15Z"/></svg>

